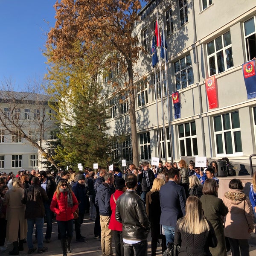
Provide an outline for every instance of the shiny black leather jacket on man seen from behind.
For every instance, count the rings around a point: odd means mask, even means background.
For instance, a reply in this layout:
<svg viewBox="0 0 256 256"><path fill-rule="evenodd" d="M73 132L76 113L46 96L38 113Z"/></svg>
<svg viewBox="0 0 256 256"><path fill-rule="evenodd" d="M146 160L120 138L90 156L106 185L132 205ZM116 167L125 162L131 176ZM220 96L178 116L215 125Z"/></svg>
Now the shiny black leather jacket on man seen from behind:
<svg viewBox="0 0 256 256"><path fill-rule="evenodd" d="M116 220L123 224L122 236L128 240L147 240L150 222L145 205L133 190L126 190L116 200Z"/></svg>

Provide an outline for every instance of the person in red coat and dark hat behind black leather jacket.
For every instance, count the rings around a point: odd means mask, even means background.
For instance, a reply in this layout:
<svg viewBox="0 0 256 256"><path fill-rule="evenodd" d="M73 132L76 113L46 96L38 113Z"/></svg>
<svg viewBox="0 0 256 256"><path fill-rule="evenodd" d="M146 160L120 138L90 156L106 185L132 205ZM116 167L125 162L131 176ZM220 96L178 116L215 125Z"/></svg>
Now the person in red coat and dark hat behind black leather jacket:
<svg viewBox="0 0 256 256"><path fill-rule="evenodd" d="M110 222L108 228L113 230L113 236L115 239L116 256L124 256L124 247L122 241L122 223L116 220L116 200L126 190L125 180L123 178L116 179L116 192L111 195L110 207L112 210Z"/></svg>

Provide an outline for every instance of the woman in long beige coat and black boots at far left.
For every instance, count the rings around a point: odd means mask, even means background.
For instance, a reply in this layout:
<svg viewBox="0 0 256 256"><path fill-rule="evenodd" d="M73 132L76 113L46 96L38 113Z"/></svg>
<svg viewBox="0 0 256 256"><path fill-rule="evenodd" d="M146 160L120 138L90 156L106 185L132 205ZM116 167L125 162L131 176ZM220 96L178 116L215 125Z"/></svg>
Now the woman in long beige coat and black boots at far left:
<svg viewBox="0 0 256 256"><path fill-rule="evenodd" d="M23 250L23 240L26 238L27 222L25 219L25 205L21 203L24 189L19 186L20 180L13 178L12 189L6 192L4 204L6 209L6 240L12 242L13 250L9 255L18 255L19 250ZM19 234L20 229L20 234ZM18 244L19 238L19 244Z"/></svg>

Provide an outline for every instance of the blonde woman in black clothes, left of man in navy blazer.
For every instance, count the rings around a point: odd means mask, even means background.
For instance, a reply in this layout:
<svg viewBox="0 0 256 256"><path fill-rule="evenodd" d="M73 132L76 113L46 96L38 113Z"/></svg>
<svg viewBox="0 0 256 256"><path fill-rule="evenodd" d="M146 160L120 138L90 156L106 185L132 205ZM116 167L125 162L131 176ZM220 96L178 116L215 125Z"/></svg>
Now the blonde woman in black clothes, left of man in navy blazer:
<svg viewBox="0 0 256 256"><path fill-rule="evenodd" d="M155 256L157 241L162 239L162 253L166 250L166 238L160 233L160 187L165 184L162 178L155 178L151 190L146 195L146 212L151 225L151 255Z"/></svg>

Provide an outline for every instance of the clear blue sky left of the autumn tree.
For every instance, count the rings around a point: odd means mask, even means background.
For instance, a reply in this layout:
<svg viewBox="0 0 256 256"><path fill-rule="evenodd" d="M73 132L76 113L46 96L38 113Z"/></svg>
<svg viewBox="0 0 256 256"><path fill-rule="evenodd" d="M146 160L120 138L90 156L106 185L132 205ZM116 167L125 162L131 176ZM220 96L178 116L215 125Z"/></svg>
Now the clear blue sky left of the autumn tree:
<svg viewBox="0 0 256 256"><path fill-rule="evenodd" d="M4 78L14 90L40 82L46 73L42 55L47 32L55 25L56 0L0 0L0 88Z"/></svg>

